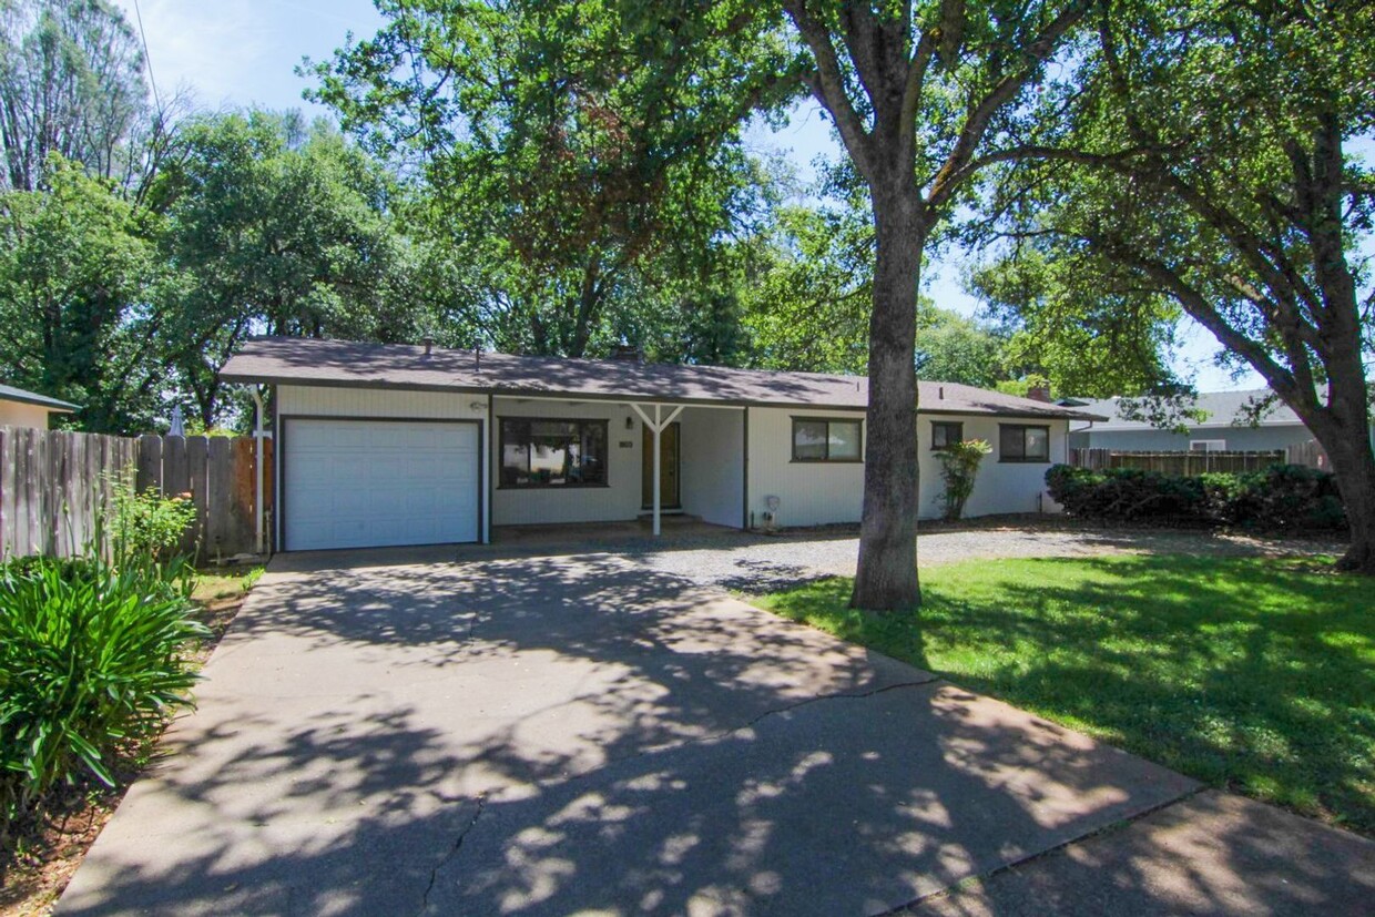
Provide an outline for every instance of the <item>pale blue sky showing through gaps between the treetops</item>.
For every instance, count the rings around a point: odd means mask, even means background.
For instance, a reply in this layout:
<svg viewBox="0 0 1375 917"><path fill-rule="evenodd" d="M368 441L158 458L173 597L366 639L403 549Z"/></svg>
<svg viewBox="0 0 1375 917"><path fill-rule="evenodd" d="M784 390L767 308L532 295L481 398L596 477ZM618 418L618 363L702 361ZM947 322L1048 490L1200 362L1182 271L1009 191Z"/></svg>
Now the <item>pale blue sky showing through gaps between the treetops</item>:
<svg viewBox="0 0 1375 917"><path fill-rule="evenodd" d="M131 23L135 0L114 0ZM302 56L327 58L348 32L368 36L382 19L371 0L139 0L148 58L158 89L194 89L206 109L260 104L298 107L327 114L301 99L307 85L294 69ZM785 151L803 175L818 155L840 154L830 128L815 106L803 106L792 122L770 133L755 131L749 143ZM939 305L972 313L978 304L960 289L961 264L946 260L925 278L927 294ZM1211 363L1217 344L1196 326L1184 329L1176 368L1202 390L1255 388L1254 375L1229 378Z"/></svg>

